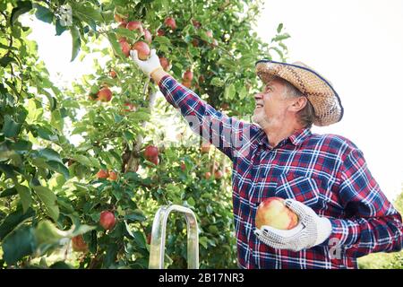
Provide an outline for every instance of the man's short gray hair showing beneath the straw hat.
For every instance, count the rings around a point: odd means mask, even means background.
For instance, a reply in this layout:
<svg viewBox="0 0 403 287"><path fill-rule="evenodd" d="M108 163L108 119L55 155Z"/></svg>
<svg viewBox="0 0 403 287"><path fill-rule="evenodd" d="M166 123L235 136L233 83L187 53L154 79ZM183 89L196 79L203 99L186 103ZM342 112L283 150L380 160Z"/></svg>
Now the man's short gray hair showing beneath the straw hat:
<svg viewBox="0 0 403 287"><path fill-rule="evenodd" d="M296 89L296 87L280 77L275 77L279 82L284 84L283 96L287 99L296 99L299 97L306 97L301 91ZM298 121L304 127L311 127L315 121L315 110L313 105L308 98L306 98L306 105L303 109L297 112Z"/></svg>

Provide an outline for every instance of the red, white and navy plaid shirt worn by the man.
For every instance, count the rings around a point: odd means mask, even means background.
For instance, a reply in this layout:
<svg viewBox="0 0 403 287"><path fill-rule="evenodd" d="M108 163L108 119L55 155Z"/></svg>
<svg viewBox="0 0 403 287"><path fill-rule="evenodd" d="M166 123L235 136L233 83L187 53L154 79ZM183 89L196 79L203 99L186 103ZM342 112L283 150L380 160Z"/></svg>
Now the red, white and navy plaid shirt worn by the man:
<svg viewBox="0 0 403 287"><path fill-rule="evenodd" d="M402 248L400 214L363 153L339 135L302 129L271 148L262 128L227 117L170 76L159 88L194 132L233 162L233 207L241 268L356 268L356 257ZM294 198L330 219L330 238L299 252L270 248L253 230L267 197Z"/></svg>

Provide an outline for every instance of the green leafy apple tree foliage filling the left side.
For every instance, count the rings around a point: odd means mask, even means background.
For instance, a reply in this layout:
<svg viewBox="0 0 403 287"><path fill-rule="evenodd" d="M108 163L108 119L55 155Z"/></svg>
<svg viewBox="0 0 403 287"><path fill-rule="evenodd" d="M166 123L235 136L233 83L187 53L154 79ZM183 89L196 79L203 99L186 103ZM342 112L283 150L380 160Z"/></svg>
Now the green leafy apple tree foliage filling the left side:
<svg viewBox="0 0 403 287"><path fill-rule="evenodd" d="M167 145L160 138L161 124L152 118L172 108L165 101L153 107L158 87L124 57L118 42L124 37L132 44L143 35L118 27L115 16L141 21L153 35L151 47L171 63L171 74L180 79L191 68L194 91L217 109L226 107L229 115L242 117L253 106L247 95L258 88L255 60L270 58L272 50L281 57L287 53L282 40L289 36L282 33L282 24L270 45L251 32L259 4L0 3L0 267L147 268L153 215L169 203L184 204L197 214L202 268L236 266L230 174L204 178L214 162L222 170L228 162L215 150L204 154L197 144ZM72 61L100 53L95 73L73 87L52 83L36 42L27 39L30 28L21 24L21 15L27 13L52 24L56 35L71 34ZM163 24L167 16L176 19L176 30ZM157 36L159 29L164 36ZM103 48L106 40L108 47ZM106 65L99 64L101 59ZM95 100L102 87L112 91L112 100ZM127 110L127 102L135 109ZM81 143L73 144L72 135L80 135ZM148 144L159 146L158 165L142 156ZM113 170L118 176L98 178L99 170ZM116 215L113 230L99 226L104 210ZM183 220L174 218L169 230L167 267L183 268ZM71 239L80 234L88 252L72 253Z"/></svg>

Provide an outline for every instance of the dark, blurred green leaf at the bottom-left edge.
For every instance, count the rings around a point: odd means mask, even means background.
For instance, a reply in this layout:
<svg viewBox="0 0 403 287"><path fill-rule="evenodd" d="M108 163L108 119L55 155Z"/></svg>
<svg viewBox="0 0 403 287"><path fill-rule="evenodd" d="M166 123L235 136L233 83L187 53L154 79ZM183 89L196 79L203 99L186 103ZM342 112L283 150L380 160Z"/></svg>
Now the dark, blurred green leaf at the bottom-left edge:
<svg viewBox="0 0 403 287"><path fill-rule="evenodd" d="M2 248L4 260L8 265L13 265L22 257L31 255L36 248L33 229L30 226L22 226L13 230L4 239Z"/></svg>

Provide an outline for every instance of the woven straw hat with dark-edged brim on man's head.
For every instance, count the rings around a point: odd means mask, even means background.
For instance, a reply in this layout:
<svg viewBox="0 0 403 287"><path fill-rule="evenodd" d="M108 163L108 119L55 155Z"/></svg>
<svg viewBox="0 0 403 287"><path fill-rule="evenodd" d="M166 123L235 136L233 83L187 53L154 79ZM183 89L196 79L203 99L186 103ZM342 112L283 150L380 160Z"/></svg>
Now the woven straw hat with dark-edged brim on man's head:
<svg viewBox="0 0 403 287"><path fill-rule="evenodd" d="M316 126L329 126L339 122L343 117L343 107L339 95L331 83L308 65L296 62L293 64L279 63L271 60L256 62L256 74L263 83L278 76L292 83L312 103Z"/></svg>

